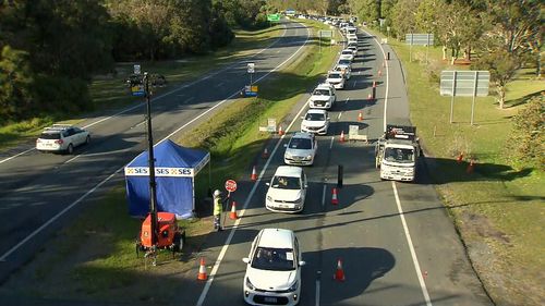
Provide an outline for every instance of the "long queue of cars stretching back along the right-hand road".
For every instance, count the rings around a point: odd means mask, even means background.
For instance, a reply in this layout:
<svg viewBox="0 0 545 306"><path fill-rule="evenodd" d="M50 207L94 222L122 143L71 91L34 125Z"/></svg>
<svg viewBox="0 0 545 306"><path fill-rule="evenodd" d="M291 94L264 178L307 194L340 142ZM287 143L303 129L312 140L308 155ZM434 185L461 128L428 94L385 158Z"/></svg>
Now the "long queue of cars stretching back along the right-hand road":
<svg viewBox="0 0 545 306"><path fill-rule="evenodd" d="M327 20L330 21L330 20ZM330 21L330 24L332 22ZM343 26L348 46L341 51L335 68L326 81L318 84L307 100L308 110L301 117L301 132L294 133L284 145L284 166L279 166L269 182L265 208L274 212L301 212L304 209L308 181L302 166L314 163L318 142L315 135L327 135L329 114L336 100L336 89L343 89L351 77L352 61L358 52L355 27ZM353 29L350 27L352 26ZM252 243L250 254L242 259L246 264L243 280L243 297L251 305L299 304L301 297L302 260L298 238L286 229L263 229Z"/></svg>

